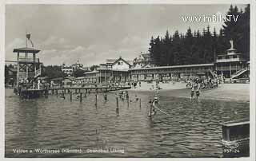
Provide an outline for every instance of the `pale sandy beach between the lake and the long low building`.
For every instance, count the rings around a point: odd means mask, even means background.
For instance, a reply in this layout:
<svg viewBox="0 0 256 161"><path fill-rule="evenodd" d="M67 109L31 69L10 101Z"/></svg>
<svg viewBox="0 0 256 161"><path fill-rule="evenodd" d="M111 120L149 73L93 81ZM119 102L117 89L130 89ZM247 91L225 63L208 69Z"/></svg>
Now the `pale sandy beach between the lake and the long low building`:
<svg viewBox="0 0 256 161"><path fill-rule="evenodd" d="M186 88L185 83L160 83L159 90L162 96L174 96L190 98L190 89ZM154 91L150 89L152 84L142 83L142 87L131 88L132 91ZM250 84L221 84L218 88L205 89L201 91L202 100L241 100L250 101Z"/></svg>

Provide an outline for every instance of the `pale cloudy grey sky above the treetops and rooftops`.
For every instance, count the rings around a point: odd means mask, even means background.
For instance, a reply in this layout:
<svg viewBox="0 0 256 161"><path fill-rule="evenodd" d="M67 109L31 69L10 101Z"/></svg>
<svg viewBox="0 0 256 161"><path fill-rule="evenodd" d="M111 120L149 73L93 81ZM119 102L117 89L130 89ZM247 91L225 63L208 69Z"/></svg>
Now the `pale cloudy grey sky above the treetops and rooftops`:
<svg viewBox="0 0 256 161"><path fill-rule="evenodd" d="M233 4L234 5L234 4ZM245 8L245 5L237 5ZM26 47L26 32L44 65L98 65L106 59L133 60L147 53L150 38L166 30L186 33L222 22L183 22L182 16L226 14L228 5L6 5L6 60ZM28 47L31 47L30 44Z"/></svg>

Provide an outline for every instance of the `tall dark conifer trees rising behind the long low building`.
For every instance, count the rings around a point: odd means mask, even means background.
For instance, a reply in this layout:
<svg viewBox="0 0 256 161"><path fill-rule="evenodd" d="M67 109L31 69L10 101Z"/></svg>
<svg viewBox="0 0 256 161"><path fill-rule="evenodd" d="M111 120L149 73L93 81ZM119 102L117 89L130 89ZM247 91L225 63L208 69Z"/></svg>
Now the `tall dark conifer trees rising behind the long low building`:
<svg viewBox="0 0 256 161"><path fill-rule="evenodd" d="M230 19L224 22L222 29L217 33L214 28L210 32L210 26L192 32L189 28L186 33L170 35L168 30L164 37L151 37L149 53L154 65L190 65L214 63L215 58L225 54L230 48L230 40L234 41L234 48L238 53L243 53L246 59L250 59L250 6L244 10L238 10L237 6L230 6L227 15L238 16L237 21Z"/></svg>

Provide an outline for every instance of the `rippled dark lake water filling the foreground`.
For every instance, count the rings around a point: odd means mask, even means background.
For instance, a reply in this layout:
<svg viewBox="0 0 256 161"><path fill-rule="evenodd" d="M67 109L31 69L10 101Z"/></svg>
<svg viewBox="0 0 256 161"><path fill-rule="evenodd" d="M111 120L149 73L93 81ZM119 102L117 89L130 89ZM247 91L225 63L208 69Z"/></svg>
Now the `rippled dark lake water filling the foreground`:
<svg viewBox="0 0 256 161"><path fill-rule="evenodd" d="M135 95L142 99L134 101ZM57 96L21 100L6 89L6 157L222 157L222 121L249 118L249 103L162 96L162 110L147 116L153 92L130 92L129 102L115 93L105 101L90 94L70 102ZM13 149L106 149L116 153L14 154Z"/></svg>

